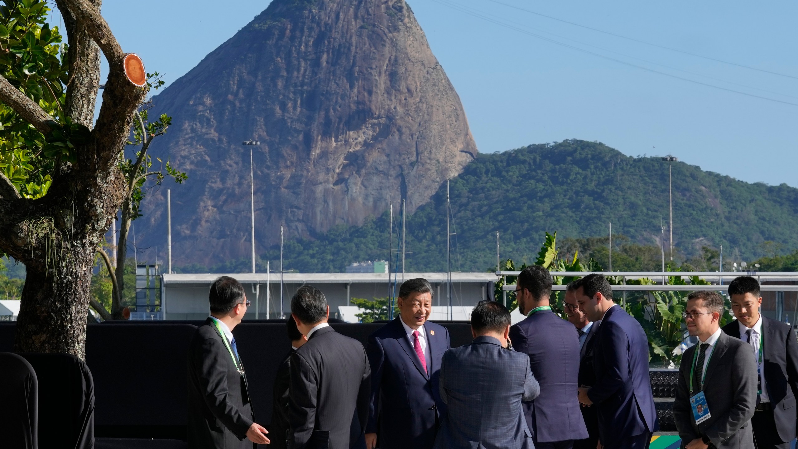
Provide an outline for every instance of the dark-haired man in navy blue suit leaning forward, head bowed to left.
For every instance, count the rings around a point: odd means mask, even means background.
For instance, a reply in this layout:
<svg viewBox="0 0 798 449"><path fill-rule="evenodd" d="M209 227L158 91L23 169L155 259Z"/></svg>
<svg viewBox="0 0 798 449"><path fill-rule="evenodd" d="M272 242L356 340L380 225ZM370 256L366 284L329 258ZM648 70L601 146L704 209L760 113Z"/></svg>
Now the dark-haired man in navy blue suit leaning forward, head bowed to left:
<svg viewBox="0 0 798 449"><path fill-rule="evenodd" d="M604 449L649 447L658 425L646 332L613 302L610 283L600 274L579 280L576 302L588 320L601 320L593 348L596 380L593 387L579 388L579 402L597 407Z"/></svg>

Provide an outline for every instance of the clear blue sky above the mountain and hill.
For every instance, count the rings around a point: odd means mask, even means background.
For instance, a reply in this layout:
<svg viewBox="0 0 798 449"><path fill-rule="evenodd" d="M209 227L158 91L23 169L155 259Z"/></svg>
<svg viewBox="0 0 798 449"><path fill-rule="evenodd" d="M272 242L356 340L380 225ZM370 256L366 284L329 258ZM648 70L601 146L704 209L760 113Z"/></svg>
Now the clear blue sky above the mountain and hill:
<svg viewBox="0 0 798 449"><path fill-rule="evenodd" d="M171 82L267 5L106 0L102 11L124 50L140 54L148 71L160 71ZM798 2L409 0L409 5L460 94L481 152L579 138L632 156L674 153L744 181L798 186Z"/></svg>

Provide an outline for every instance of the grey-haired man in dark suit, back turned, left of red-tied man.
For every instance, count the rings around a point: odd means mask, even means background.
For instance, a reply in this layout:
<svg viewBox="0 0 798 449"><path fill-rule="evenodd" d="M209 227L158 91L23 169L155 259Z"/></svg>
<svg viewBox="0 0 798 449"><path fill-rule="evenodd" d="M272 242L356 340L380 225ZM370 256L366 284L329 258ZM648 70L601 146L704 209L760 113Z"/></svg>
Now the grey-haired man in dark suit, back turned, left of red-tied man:
<svg viewBox="0 0 798 449"><path fill-rule="evenodd" d="M291 316L307 337L290 360L291 447L349 449L353 416L357 412L359 435L369 417L371 371L365 348L330 328L330 306L318 288L297 290Z"/></svg>

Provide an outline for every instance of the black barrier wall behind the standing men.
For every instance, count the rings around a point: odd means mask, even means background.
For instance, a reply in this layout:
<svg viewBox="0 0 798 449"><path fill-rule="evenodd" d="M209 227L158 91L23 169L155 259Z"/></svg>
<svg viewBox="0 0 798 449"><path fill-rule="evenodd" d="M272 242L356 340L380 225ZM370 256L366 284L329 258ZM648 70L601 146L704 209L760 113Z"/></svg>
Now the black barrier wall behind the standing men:
<svg viewBox="0 0 798 449"><path fill-rule="evenodd" d="M98 437L185 438L188 345L196 326L169 323L89 324L86 364L94 378ZM471 342L471 326L440 323L452 347ZM201 323L197 323L201 324ZM385 324L332 324L366 344ZM14 348L15 324L0 324L0 351ZM271 393L280 362L290 350L286 326L244 322L233 332L247 370L255 419L271 421Z"/></svg>

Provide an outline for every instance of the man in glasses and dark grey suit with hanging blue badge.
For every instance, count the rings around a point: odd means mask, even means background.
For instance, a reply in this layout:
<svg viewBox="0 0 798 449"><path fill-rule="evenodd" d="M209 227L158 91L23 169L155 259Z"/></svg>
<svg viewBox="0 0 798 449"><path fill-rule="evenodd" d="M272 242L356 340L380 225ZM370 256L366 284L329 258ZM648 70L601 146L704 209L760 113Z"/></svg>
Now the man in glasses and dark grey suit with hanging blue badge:
<svg viewBox="0 0 798 449"><path fill-rule="evenodd" d="M717 292L693 292L682 313L687 332L698 337L681 355L674 400L685 449L754 447L749 420L757 403L757 361L748 344L721 332L723 309Z"/></svg>

